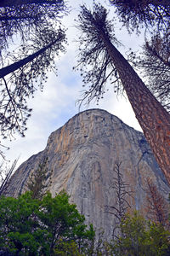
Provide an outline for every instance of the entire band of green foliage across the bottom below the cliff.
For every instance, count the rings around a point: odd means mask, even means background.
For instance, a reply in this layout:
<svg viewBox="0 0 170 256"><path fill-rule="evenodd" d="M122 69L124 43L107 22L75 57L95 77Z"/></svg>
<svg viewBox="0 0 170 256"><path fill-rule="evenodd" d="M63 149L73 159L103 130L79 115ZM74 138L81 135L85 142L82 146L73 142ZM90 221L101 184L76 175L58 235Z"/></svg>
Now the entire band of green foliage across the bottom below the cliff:
<svg viewBox="0 0 170 256"><path fill-rule="evenodd" d="M95 242L93 225L69 203L61 191L54 198L48 192L42 199L26 192L17 199L0 199L0 248L13 255L142 255L166 256L170 253L170 232L152 223L139 212L126 214L120 224L121 236L108 243Z"/></svg>

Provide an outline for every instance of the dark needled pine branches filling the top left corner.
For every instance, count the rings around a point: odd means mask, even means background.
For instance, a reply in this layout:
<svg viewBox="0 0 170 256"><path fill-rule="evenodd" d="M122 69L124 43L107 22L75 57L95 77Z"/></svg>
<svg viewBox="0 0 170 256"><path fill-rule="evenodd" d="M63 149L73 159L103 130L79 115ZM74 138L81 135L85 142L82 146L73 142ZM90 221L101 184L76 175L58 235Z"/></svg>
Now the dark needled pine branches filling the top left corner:
<svg viewBox="0 0 170 256"><path fill-rule="evenodd" d="M14 35L20 35L22 44L36 34L37 30L59 21L59 15L66 12L63 0L1 1L0 2L0 45L8 47ZM27 44L27 43L26 43Z"/></svg>

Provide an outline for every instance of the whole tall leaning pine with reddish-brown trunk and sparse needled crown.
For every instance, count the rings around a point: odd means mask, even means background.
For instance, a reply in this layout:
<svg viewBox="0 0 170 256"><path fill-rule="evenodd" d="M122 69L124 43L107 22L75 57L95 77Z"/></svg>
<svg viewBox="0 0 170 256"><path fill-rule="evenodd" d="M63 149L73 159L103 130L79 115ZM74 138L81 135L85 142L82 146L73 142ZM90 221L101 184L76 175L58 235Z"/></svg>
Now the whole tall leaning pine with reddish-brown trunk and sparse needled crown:
<svg viewBox="0 0 170 256"><path fill-rule="evenodd" d="M116 43L113 33L111 34L113 26L106 17L106 9L96 4L93 12L83 5L79 15L78 28L82 31L82 36L77 68L82 70L84 84L89 84L83 99L99 99L105 92L107 79L115 75L119 83L118 88L121 81L144 136L150 143L161 171L170 183L169 113L113 45Z"/></svg>

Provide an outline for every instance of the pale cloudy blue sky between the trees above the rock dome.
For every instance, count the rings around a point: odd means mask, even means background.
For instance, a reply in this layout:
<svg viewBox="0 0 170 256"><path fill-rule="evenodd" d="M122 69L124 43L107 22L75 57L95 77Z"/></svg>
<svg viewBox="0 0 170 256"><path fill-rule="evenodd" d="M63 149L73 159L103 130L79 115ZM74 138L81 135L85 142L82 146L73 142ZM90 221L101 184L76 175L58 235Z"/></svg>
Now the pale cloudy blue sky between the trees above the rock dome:
<svg viewBox="0 0 170 256"><path fill-rule="evenodd" d="M29 100L29 107L33 108L33 112L27 123L26 137L15 136L12 142L8 142L8 140L2 142L10 148L8 150L3 149L6 159L13 162L19 158L18 166L31 157L32 154L42 151L46 147L51 132L65 125L68 119L79 112L79 106L76 102L81 98L82 78L80 73L72 70L72 67L77 63L75 39L79 33L74 20L79 13L79 5L86 3L90 7L93 0L70 0L68 2L71 5L71 13L62 22L67 27L66 33L69 45L66 47L66 54L61 55L59 60L56 60L58 76L49 73L43 92L37 90L35 97ZM114 9L109 6L109 1L102 0L99 2L110 9L110 16L112 17ZM138 50L139 46L142 46L142 36L139 38L134 35L129 36L126 29L120 30L120 27L120 24L116 24L115 30L116 37L124 45L119 49L122 54L125 54L129 48ZM99 101L99 105L96 105L96 102L91 102L88 107L82 106L80 111L89 108L105 109L122 119L125 124L142 131L126 95L116 96L113 87L108 86L108 89L109 91L105 93L104 99Z"/></svg>

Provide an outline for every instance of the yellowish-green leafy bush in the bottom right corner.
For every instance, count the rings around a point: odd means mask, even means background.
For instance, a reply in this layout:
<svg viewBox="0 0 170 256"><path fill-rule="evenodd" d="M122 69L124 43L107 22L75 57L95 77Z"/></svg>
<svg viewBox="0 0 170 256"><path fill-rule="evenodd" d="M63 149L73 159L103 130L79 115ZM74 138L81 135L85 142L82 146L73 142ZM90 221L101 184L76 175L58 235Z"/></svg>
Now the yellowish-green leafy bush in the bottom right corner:
<svg viewBox="0 0 170 256"><path fill-rule="evenodd" d="M154 224L144 219L138 212L131 216L127 214L122 219L122 236L114 243L116 255L169 255L170 232L160 224Z"/></svg>

